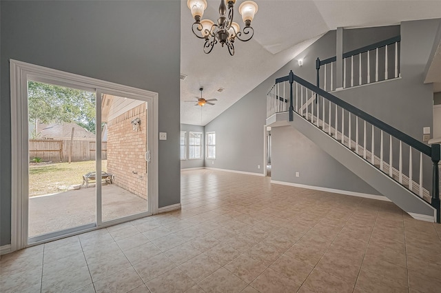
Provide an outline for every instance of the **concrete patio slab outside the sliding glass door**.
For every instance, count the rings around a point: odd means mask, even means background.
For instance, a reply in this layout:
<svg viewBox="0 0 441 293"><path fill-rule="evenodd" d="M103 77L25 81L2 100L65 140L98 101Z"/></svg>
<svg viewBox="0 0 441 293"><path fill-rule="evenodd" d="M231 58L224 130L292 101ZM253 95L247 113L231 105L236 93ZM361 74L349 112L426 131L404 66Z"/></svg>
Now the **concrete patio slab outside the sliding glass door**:
<svg viewBox="0 0 441 293"><path fill-rule="evenodd" d="M103 221L147 212L147 200L117 185L103 185ZM29 237L95 223L95 188L29 199Z"/></svg>

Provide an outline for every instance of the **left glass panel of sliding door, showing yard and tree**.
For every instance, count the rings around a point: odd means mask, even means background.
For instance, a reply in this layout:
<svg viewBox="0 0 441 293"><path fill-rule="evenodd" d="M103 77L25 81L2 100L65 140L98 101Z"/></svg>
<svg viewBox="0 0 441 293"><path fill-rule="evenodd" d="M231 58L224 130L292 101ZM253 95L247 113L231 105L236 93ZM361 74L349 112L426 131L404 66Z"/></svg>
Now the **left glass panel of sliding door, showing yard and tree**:
<svg viewBox="0 0 441 293"><path fill-rule="evenodd" d="M95 106L94 92L28 81L30 243L95 226Z"/></svg>

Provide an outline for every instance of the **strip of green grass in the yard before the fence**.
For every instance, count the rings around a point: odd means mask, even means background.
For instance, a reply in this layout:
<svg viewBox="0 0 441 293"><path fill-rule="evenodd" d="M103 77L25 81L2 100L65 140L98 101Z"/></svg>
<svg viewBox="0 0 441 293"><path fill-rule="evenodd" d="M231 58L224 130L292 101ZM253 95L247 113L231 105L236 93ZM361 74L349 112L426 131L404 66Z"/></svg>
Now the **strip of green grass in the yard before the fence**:
<svg viewBox="0 0 441 293"><path fill-rule="evenodd" d="M107 161L103 160L103 171ZM29 165L29 196L63 192L61 186L83 183L83 174L95 171L95 161L72 163L38 163ZM67 190L67 189L65 189Z"/></svg>

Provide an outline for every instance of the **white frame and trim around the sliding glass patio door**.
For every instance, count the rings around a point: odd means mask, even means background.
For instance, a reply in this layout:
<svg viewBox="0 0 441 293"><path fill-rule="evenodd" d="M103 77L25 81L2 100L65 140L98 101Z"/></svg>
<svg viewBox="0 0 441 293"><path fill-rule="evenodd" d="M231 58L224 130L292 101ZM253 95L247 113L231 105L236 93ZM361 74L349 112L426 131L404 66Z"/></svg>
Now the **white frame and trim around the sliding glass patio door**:
<svg viewBox="0 0 441 293"><path fill-rule="evenodd" d="M150 152L152 161L149 166L149 178L152 184L152 193L149 194L149 213L158 212L158 93L127 85L120 85L78 74L45 68L21 61L10 59L10 101L11 101L11 248L10 251L19 250L28 246L28 79L50 80L58 85L67 85L74 88L93 89L95 92L113 92L122 97L141 97L149 101L152 108L152 132ZM98 99L97 99L98 103ZM100 108L101 107L97 107ZM150 110L149 110L150 114ZM149 129L150 130L150 129ZM98 149L98 148L97 148ZM149 184L150 185L150 184ZM143 215L144 216L144 215ZM136 216L123 218L123 221L135 219ZM106 222L113 225L118 221ZM105 225L97 223L96 228ZM73 234L79 234L76 232ZM64 235L66 236L66 235ZM63 237L64 237L63 236ZM61 238L60 236L59 238ZM51 239L54 240L54 239ZM37 244L37 243L34 243Z"/></svg>

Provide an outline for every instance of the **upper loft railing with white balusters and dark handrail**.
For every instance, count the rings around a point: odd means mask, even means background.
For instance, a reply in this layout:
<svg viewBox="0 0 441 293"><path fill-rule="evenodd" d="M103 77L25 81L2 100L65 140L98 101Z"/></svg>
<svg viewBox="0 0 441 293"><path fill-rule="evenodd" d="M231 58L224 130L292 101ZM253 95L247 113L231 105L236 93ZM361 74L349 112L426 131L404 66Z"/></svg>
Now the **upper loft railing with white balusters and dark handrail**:
<svg viewBox="0 0 441 293"><path fill-rule="evenodd" d="M401 36L358 48L342 55L342 88L400 77ZM333 91L337 85L337 57L316 59L318 88ZM320 84L320 76L323 81Z"/></svg>

